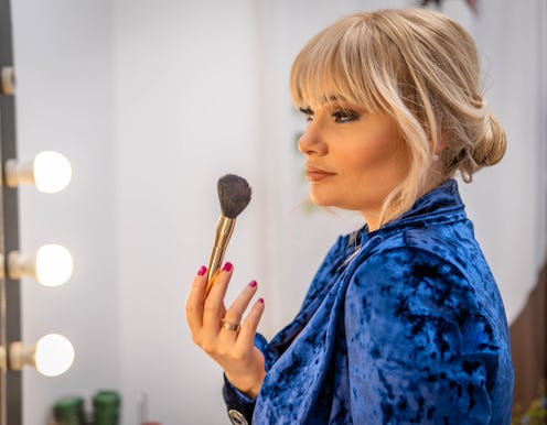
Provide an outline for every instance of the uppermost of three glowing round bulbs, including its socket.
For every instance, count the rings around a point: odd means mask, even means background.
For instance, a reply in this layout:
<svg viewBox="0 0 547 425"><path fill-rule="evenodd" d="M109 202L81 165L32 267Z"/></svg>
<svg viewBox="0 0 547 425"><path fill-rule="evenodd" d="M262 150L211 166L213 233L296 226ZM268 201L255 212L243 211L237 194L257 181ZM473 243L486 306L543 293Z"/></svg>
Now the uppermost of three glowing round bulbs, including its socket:
<svg viewBox="0 0 547 425"><path fill-rule="evenodd" d="M36 186L40 192L53 194L63 190L72 179L72 166L58 152L40 152L34 161L20 164L17 160L6 161L6 184L17 187L21 183Z"/></svg>

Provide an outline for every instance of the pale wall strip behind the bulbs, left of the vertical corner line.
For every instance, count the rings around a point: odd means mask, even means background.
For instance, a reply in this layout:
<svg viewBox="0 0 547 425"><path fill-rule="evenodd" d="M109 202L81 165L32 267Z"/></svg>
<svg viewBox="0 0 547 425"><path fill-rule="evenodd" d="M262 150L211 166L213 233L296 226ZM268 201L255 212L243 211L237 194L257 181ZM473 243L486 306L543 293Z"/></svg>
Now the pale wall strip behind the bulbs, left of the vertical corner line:
<svg viewBox="0 0 547 425"><path fill-rule="evenodd" d="M12 1L18 73L19 159L43 150L69 157L72 184L60 194L20 189L24 252L67 247L75 272L64 286L22 282L22 337L60 333L76 360L57 378L23 373L24 424L45 424L53 402L120 386L114 209L111 11L107 0Z"/></svg>

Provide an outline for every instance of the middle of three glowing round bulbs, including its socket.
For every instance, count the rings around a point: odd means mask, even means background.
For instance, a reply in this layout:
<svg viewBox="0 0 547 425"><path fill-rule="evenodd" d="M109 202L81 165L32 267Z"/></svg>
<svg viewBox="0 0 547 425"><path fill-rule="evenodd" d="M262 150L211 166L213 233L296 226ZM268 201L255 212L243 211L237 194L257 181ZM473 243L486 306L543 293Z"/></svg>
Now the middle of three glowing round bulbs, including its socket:
<svg viewBox="0 0 547 425"><path fill-rule="evenodd" d="M74 270L72 255L65 247L50 243L32 255L12 251L8 255L8 276L17 280L26 275L44 286L58 286L68 281Z"/></svg>

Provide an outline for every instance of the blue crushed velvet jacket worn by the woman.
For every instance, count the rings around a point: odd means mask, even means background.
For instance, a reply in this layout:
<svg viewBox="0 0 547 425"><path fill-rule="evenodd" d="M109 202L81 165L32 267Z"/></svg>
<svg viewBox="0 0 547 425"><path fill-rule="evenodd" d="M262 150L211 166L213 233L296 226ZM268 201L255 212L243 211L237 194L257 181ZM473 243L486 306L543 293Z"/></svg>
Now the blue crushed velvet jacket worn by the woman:
<svg viewBox="0 0 547 425"><path fill-rule="evenodd" d="M511 423L505 312L451 179L397 220L340 237L269 344L254 424Z"/></svg>

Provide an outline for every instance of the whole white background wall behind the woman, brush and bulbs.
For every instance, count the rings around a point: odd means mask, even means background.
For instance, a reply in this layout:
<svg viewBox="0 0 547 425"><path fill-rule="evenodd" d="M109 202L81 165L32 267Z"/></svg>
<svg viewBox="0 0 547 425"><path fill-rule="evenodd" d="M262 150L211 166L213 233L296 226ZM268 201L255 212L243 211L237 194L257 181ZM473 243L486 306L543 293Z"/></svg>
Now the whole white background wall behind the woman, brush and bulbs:
<svg viewBox="0 0 547 425"><path fill-rule="evenodd" d="M539 2L484 1L479 18L461 1L446 8L489 58L490 103L510 135L503 165L464 189L510 317L545 254L545 237L534 233L545 210L533 206L545 199L533 154L540 117L526 113L539 76L521 66L535 55ZM125 425L138 422L142 392L150 418L163 425L224 423L221 371L193 347L184 323L191 279L212 244L216 181L232 172L254 187L227 254L236 266L229 296L257 279L260 330L271 336L294 315L336 235L361 226L358 217L302 206L294 134L304 122L290 105L290 63L342 14L414 2L12 3L19 156L57 149L75 168L64 193L21 189L23 249L58 241L76 259L65 287L24 283L23 337L65 334L78 356L61 378L24 372L24 423L43 423L61 395L106 386L122 393ZM527 42L514 43L515 32Z"/></svg>

